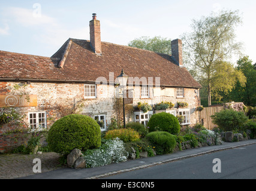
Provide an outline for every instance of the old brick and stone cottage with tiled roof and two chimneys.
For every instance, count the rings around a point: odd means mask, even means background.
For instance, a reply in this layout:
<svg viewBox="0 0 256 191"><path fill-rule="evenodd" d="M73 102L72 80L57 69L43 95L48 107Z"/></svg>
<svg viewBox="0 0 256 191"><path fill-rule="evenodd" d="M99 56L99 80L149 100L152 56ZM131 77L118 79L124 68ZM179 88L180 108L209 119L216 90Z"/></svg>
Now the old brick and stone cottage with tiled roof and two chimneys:
<svg viewBox="0 0 256 191"><path fill-rule="evenodd" d="M100 21L96 14L89 21L90 41L68 39L52 57L0 51L0 107L25 115L31 129L50 128L53 121L75 106L84 115L101 122L106 131L115 118L120 90L117 76L129 76L125 103L138 102L152 107L170 101L166 110L183 115L182 125L198 122L195 109L200 106L201 85L189 74L182 61L182 41L171 41L171 56L124 45L101 42ZM178 102L188 103L179 107ZM121 107L122 108L122 107ZM57 110L61 110L58 115ZM127 112L126 121L144 125L157 112L152 109ZM1 133L6 132L4 126ZM0 149L7 143L1 142Z"/></svg>

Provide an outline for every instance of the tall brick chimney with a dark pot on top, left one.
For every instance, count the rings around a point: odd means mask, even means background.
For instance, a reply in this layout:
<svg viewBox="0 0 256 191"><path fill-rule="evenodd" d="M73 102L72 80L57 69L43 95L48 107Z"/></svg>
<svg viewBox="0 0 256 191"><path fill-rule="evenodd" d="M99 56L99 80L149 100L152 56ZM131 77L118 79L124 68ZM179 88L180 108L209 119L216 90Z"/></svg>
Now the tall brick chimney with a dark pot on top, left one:
<svg viewBox="0 0 256 191"><path fill-rule="evenodd" d="M101 54L101 27L96 13L92 14L90 21L90 44L94 53Z"/></svg>

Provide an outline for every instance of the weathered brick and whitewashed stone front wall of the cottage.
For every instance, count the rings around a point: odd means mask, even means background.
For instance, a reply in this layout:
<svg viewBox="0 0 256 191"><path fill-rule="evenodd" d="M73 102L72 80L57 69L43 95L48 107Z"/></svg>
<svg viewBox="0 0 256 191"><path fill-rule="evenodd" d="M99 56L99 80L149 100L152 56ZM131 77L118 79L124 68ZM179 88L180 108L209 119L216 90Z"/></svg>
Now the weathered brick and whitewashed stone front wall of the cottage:
<svg viewBox="0 0 256 191"><path fill-rule="evenodd" d="M19 85L20 88L14 88ZM161 103L161 101L171 101L177 108L177 101L186 101L191 114L191 124L195 124L197 121L197 112L195 108L198 107L197 93L193 88L184 88L184 97L177 98L174 91L173 97L168 96L153 96L153 88L149 88L149 98L140 97L140 88L134 87L133 91L133 105L138 102L147 102L153 106L153 104ZM6 108L6 110L14 109L21 115L25 114L23 119L25 124L29 124L28 112L44 111L47 115L47 128L61 118L59 108L72 109L73 106L83 103L83 107L80 108L80 113L88 116L106 115L106 123L110 124L111 119L117 115L114 108L115 99L118 98L118 88L113 85L97 84L97 98L84 98L84 84L65 84L65 83L45 83L45 82L31 82L29 84L23 82L0 82L0 95L37 95L37 106L35 107L13 107ZM120 96L122 97L122 96ZM63 109L63 108L62 108ZM67 112L67 111L66 111ZM127 121L133 121L134 115L127 115ZM8 127L10 128L10 127ZM11 127L15 128L15 127ZM2 125L0 127L0 134L7 131L7 126ZM6 140L7 138L5 138ZM9 138L10 140L12 138ZM11 146L3 141L4 138L0 137L0 149L3 147ZM24 141L24 140L22 140ZM18 143L17 143L18 144ZM12 146L16 146L16 143Z"/></svg>

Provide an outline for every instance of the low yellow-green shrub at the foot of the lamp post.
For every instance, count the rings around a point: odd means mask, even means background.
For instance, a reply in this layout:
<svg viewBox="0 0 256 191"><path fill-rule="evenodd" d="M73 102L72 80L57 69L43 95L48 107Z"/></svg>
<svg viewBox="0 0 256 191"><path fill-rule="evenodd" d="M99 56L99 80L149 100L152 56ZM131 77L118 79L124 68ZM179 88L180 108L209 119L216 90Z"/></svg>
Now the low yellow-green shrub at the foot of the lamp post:
<svg viewBox="0 0 256 191"><path fill-rule="evenodd" d="M122 141L124 141L124 143L127 143L129 141L136 141L140 139L140 135L138 134L138 132L135 130L132 130L131 128L122 128L119 130L107 131L104 138L113 139L117 137L120 138Z"/></svg>

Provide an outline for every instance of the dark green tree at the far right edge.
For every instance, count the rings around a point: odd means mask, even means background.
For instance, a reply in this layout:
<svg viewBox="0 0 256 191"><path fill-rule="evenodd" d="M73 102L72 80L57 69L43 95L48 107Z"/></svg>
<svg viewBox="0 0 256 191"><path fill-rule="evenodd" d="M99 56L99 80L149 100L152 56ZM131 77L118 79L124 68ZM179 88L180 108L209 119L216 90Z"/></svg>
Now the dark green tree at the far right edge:
<svg viewBox="0 0 256 191"><path fill-rule="evenodd" d="M242 101L247 106L256 106L256 64L252 64L249 56L244 56L237 61L237 70L246 76L245 86L240 82L231 91L230 97L234 101Z"/></svg>

